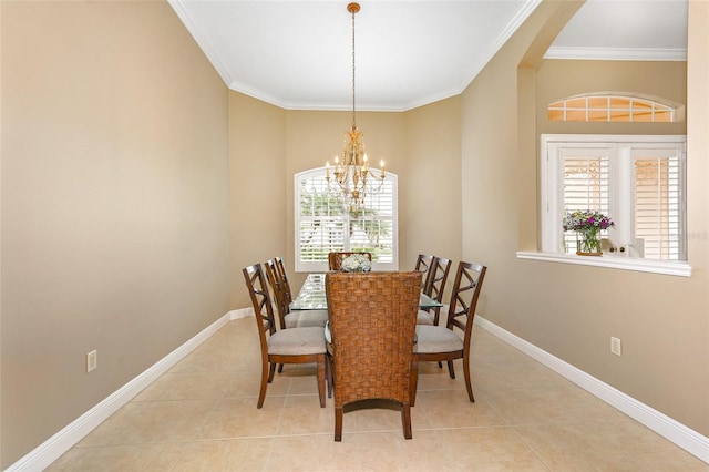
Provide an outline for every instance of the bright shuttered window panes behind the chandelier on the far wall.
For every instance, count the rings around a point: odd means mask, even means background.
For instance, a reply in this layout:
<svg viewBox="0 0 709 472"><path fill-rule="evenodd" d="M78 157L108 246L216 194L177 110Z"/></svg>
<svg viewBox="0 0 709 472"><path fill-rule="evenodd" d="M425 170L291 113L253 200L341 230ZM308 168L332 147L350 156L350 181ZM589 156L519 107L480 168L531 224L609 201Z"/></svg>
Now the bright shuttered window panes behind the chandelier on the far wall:
<svg viewBox="0 0 709 472"><path fill-rule="evenodd" d="M297 271L327 271L328 253L336 250L367 250L372 269L398 269L395 174L387 172L380 191L369 192L357 213L328 188L325 167L296 174L295 191Z"/></svg>

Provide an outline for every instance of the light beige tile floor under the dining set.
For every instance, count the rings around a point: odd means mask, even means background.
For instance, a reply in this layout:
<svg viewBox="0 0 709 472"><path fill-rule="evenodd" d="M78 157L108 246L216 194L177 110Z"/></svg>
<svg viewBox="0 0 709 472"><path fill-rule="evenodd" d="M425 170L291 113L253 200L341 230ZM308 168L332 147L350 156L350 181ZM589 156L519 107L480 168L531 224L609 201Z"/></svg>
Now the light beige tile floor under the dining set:
<svg viewBox="0 0 709 472"><path fill-rule="evenodd" d="M413 439L397 409L319 408L315 368L286 367L256 409L254 318L230 321L49 471L703 471L709 464L475 327L467 401L420 367Z"/></svg>

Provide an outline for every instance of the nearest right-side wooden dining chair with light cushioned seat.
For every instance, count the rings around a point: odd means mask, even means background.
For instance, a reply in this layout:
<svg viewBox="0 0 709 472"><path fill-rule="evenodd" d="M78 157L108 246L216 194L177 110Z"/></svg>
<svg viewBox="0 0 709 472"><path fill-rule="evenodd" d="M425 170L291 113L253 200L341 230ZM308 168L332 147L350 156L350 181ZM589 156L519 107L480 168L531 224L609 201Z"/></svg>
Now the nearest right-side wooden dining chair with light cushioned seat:
<svg viewBox="0 0 709 472"><path fill-rule="evenodd" d="M477 264L459 263L451 294L446 326L417 326L411 371L411 406L415 404L419 362L446 361L451 379L455 378L454 359L463 359L463 374L471 402L475 401L470 379L470 342L473 318L487 268ZM462 331L462 337L455 331Z"/></svg>

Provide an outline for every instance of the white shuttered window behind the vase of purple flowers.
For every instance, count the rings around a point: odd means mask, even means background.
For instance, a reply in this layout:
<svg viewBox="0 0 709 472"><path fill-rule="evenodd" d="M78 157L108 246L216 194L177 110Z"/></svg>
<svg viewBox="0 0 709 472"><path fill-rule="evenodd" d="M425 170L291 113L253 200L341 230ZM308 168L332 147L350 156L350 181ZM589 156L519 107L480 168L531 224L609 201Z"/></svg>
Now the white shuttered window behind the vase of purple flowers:
<svg viewBox="0 0 709 472"><path fill-rule="evenodd" d="M610 216L608 255L686 261L685 136L542 135L542 250L576 252L562 219Z"/></svg>

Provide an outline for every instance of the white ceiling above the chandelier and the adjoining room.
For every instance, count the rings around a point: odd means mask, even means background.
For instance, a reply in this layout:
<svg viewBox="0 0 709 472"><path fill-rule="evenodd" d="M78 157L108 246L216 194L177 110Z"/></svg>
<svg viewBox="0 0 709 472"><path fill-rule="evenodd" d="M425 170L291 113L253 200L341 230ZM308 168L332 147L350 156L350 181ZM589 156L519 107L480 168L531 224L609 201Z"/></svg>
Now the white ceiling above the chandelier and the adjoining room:
<svg viewBox="0 0 709 472"><path fill-rule="evenodd" d="M288 110L351 110L348 1L168 0L224 82ZM461 93L540 0L359 1L357 109ZM687 0L588 0L548 58L685 60Z"/></svg>

